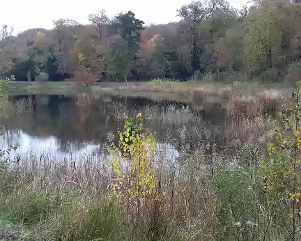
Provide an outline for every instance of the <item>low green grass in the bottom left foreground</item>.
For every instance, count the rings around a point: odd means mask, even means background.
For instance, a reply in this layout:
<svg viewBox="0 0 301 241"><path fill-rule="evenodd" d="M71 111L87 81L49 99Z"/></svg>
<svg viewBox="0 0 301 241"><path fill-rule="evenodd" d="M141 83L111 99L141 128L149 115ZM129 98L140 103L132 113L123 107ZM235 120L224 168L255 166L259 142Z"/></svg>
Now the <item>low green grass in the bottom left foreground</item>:
<svg viewBox="0 0 301 241"><path fill-rule="evenodd" d="M6 199L1 210L0 225L22 226L29 240L127 240L130 235L113 202L77 193L19 193Z"/></svg>

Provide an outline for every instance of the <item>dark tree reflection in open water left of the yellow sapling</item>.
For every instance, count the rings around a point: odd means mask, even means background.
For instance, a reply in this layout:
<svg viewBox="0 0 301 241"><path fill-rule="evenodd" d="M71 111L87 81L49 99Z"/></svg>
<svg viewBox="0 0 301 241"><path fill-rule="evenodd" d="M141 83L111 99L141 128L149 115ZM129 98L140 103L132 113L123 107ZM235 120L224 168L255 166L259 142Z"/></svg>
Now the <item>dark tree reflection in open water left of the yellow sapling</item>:
<svg viewBox="0 0 301 241"><path fill-rule="evenodd" d="M57 137L62 149L67 149L70 143L79 147L86 141L105 143L107 131L116 129L114 119L108 120L104 114L102 103L87 108L76 104L74 98L51 95L39 96L35 104L33 113L10 116L7 127L21 129L33 137Z"/></svg>

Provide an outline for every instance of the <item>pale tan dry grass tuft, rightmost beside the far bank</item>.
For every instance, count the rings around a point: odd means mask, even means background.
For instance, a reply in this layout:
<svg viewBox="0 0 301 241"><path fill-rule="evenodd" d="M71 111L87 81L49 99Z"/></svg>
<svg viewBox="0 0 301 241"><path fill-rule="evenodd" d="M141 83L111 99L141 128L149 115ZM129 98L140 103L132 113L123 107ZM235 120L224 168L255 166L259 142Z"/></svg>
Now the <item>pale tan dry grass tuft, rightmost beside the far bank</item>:
<svg viewBox="0 0 301 241"><path fill-rule="evenodd" d="M276 90L268 90L259 94L259 103L262 107L269 110L279 109L282 99L279 91Z"/></svg>

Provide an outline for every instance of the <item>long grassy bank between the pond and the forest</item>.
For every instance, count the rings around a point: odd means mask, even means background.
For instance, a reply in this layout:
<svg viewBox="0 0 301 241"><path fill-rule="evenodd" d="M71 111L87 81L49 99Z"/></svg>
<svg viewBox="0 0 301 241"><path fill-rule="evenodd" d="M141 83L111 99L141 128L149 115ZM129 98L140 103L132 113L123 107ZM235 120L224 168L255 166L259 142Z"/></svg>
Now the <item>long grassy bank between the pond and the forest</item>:
<svg viewBox="0 0 301 241"><path fill-rule="evenodd" d="M8 95L77 95L79 93L93 93L93 95L122 95L153 98L155 100L179 100L193 102L194 100L216 100L231 96L251 95L268 90L279 91L280 95L287 96L292 88L285 84L262 84L257 82L233 82L231 84L214 81L162 81L148 82L94 83L91 86L82 86L68 81L45 82L17 82L9 81Z"/></svg>

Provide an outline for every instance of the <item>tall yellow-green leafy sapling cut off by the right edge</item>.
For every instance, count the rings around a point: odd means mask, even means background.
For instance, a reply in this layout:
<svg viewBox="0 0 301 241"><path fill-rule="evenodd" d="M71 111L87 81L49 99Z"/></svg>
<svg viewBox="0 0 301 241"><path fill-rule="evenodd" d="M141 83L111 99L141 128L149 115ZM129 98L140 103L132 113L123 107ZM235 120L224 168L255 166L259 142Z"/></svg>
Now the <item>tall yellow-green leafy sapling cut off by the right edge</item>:
<svg viewBox="0 0 301 241"><path fill-rule="evenodd" d="M292 95L293 107L282 107L274 143L263 162L263 184L271 210L270 221L284 226L290 240L300 240L301 81Z"/></svg>

